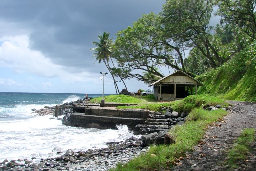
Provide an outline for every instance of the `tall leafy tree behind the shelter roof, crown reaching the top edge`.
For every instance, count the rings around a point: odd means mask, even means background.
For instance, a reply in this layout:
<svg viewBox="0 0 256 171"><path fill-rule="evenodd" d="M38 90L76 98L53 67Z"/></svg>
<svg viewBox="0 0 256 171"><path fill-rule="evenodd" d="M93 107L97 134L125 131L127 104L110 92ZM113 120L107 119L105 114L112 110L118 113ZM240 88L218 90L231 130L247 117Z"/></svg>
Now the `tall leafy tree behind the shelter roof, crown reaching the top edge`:
<svg viewBox="0 0 256 171"><path fill-rule="evenodd" d="M223 64L218 48L212 44L209 21L213 0L167 0L163 5L162 24L166 37L198 48L213 67Z"/></svg>

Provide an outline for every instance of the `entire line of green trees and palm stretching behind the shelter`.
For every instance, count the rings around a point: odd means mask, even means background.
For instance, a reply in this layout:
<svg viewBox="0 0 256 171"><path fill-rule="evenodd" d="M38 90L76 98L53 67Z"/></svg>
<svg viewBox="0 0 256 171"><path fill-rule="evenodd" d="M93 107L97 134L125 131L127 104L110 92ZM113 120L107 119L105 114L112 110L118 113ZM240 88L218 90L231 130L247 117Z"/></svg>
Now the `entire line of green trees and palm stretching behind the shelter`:
<svg viewBox="0 0 256 171"><path fill-rule="evenodd" d="M99 35L91 50L107 66L117 94L117 82L126 87L125 79L136 78L151 84L165 76L165 68L200 75L256 38L255 5L256 0L166 0L159 14L142 15L114 42L110 33ZM214 15L220 22L209 26Z"/></svg>

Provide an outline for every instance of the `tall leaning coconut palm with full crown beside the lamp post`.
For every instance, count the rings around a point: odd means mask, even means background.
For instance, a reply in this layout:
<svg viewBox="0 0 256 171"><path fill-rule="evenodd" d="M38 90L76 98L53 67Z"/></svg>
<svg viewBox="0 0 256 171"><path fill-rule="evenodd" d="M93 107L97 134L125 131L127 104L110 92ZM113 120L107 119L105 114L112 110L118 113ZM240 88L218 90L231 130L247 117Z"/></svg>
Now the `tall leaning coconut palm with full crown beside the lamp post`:
<svg viewBox="0 0 256 171"><path fill-rule="evenodd" d="M106 65L108 71L110 72L111 76L113 77L114 86L116 88L116 94L119 94L119 89L117 87L116 80L114 79L114 75L111 72L111 67L109 65L110 56L112 54L112 45L113 42L111 39L109 39L110 33L104 32L103 35L98 35L99 42L92 42L93 45L95 45L95 48L92 48L90 50L94 50L95 53L93 57L96 57L96 61L101 63L103 60L104 64ZM117 92L118 91L118 92Z"/></svg>

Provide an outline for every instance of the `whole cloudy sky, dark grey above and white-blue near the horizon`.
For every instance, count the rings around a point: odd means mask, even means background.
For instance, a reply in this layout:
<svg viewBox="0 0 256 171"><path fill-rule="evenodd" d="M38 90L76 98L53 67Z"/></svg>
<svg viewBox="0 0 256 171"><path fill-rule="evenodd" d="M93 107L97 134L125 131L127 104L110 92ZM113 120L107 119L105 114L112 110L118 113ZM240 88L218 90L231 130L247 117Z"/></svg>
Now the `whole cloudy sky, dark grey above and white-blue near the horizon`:
<svg viewBox="0 0 256 171"><path fill-rule="evenodd" d="M165 0L1 0L0 92L102 93L93 41L159 13ZM129 92L148 86L126 80ZM111 75L106 94L114 94ZM123 89L122 84L119 89Z"/></svg>

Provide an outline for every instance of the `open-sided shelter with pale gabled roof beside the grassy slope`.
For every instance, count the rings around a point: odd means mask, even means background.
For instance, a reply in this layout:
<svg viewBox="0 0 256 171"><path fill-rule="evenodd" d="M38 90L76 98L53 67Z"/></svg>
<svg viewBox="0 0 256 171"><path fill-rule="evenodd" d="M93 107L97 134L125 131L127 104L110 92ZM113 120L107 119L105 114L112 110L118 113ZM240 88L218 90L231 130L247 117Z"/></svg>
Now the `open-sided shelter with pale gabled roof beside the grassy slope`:
<svg viewBox="0 0 256 171"><path fill-rule="evenodd" d="M149 86L154 86L154 97L156 99L171 101L197 94L197 86L203 86L203 84L187 73L178 70Z"/></svg>

